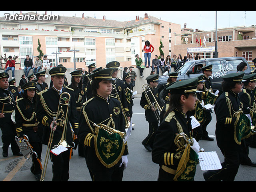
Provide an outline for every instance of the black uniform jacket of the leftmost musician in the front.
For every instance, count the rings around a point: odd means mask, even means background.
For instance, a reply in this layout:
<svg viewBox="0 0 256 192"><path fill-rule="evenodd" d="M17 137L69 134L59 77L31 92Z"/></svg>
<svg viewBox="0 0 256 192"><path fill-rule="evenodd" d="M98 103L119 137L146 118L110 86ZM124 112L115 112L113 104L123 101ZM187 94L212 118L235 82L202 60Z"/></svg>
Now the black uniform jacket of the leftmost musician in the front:
<svg viewBox="0 0 256 192"><path fill-rule="evenodd" d="M7 89L0 88L0 112L3 111L4 113L4 118L0 118L1 124L6 122L12 122L11 115L16 104L15 101L21 98L20 93L14 87L15 86L9 86Z"/></svg>

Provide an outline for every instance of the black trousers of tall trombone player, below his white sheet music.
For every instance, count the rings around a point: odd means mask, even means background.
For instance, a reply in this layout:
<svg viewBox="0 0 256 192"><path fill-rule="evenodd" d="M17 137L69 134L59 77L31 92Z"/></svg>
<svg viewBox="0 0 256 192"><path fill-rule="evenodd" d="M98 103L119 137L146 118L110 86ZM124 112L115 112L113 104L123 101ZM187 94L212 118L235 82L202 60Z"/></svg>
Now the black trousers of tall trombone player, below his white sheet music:
<svg viewBox="0 0 256 192"><path fill-rule="evenodd" d="M52 161L52 181L68 181L70 148L59 155L50 153Z"/></svg>

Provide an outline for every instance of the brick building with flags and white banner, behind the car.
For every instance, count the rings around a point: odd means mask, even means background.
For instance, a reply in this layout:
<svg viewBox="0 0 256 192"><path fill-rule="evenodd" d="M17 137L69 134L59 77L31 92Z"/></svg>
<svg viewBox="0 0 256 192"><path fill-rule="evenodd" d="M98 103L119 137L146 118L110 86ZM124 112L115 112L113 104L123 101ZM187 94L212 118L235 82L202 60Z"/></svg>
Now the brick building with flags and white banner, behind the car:
<svg viewBox="0 0 256 192"><path fill-rule="evenodd" d="M182 57L190 53L193 57L200 53L201 58L213 58L215 54L215 37L216 31L203 31L196 29L184 28L179 34L172 54L181 54ZM200 38L202 45L200 45ZM204 38L206 40L204 44ZM177 39L177 38L176 38ZM196 42L196 39L199 43ZM217 29L217 52L218 57L242 56L248 62L256 58L256 25L254 26L237 26Z"/></svg>

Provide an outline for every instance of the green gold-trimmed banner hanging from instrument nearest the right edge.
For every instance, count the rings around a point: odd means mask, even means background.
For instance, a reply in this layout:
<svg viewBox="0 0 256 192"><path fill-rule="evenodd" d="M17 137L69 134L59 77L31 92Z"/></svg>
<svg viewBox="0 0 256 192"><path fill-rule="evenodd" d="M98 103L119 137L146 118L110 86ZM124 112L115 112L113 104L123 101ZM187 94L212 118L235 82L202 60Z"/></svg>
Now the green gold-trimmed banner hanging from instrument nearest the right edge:
<svg viewBox="0 0 256 192"><path fill-rule="evenodd" d="M234 140L237 144L241 144L241 140L251 136L251 122L250 119L243 113L242 110L234 113L236 117L234 123Z"/></svg>

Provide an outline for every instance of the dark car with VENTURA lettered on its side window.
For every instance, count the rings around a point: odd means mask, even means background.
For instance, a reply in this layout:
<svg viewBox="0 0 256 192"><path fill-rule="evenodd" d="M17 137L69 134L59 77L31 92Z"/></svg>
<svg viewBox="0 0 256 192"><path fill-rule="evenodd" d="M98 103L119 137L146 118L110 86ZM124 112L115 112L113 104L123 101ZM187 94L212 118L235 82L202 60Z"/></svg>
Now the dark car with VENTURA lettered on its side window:
<svg viewBox="0 0 256 192"><path fill-rule="evenodd" d="M221 92L221 76L228 73L236 73L236 67L241 62L247 63L247 69L245 74L250 73L250 66L244 57L223 57L223 58L207 58L200 60L193 60L184 63L177 71L179 72L177 81L186 80L194 77L198 77L202 72L197 70L198 66L202 65L211 65L212 64L212 76L210 76L212 80L212 90L216 92L219 90ZM200 72L200 73L198 73ZM167 83L168 75L160 76L158 82L158 91L160 99L162 100L162 93L164 85Z"/></svg>

